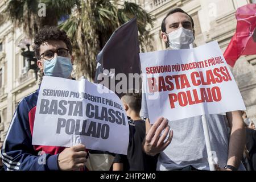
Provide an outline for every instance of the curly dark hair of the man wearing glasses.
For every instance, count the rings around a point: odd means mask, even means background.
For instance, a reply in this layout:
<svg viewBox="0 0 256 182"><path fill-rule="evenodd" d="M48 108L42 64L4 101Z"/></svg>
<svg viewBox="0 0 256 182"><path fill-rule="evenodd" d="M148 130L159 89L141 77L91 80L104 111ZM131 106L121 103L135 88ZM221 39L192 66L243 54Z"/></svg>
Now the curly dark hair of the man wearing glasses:
<svg viewBox="0 0 256 182"><path fill-rule="evenodd" d="M49 27L49 26L44 26L38 34L35 36L35 56L39 60L40 59L40 46L44 42L48 42L49 40L62 40L67 48L70 54L72 54L72 44L71 40L68 38L67 34L65 31L60 30L57 27Z"/></svg>

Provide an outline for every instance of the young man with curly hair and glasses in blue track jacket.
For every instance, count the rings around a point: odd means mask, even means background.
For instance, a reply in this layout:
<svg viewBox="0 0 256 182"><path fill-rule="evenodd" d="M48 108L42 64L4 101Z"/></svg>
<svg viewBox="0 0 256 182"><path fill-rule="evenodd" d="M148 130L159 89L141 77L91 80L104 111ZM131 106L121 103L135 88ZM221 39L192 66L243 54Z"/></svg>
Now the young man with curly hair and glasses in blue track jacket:
<svg viewBox="0 0 256 182"><path fill-rule="evenodd" d="M35 36L34 43L38 67L44 75L71 79L72 45L64 31L44 27ZM69 148L32 145L38 93L39 89L23 98L14 113L1 151L5 169L35 171L84 168L87 156L84 145Z"/></svg>

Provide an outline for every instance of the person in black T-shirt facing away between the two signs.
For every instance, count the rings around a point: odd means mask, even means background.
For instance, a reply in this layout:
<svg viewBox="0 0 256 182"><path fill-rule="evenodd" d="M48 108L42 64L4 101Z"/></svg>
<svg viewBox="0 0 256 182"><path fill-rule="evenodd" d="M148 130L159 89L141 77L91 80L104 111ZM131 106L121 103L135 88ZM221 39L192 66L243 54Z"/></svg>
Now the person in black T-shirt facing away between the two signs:
<svg viewBox="0 0 256 182"><path fill-rule="evenodd" d="M149 156L142 150L146 134L145 121L139 116L141 94L134 90L123 94L121 101L128 117L134 122L130 125L130 140L127 155L115 155L113 171L155 171L158 155Z"/></svg>

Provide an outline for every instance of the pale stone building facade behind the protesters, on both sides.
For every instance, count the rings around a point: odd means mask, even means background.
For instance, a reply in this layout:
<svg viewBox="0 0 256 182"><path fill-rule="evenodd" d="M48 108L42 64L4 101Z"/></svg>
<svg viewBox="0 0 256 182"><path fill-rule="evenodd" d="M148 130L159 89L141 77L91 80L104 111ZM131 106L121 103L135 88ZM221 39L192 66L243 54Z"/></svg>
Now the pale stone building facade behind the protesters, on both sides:
<svg viewBox="0 0 256 182"><path fill-rule="evenodd" d="M181 7L195 22L197 46L217 40L222 51L236 31L236 9L254 0L130 0L139 3L156 17L151 28L153 49L166 49L160 39L160 24L164 16L175 7ZM26 71L26 61L18 47L25 35L15 28L2 12L7 0L0 1L0 140L5 138L16 106L23 97L38 88L33 71ZM256 56L242 56L232 68L247 115L256 119ZM230 90L232 92L232 90ZM254 120L256 121L256 120Z"/></svg>

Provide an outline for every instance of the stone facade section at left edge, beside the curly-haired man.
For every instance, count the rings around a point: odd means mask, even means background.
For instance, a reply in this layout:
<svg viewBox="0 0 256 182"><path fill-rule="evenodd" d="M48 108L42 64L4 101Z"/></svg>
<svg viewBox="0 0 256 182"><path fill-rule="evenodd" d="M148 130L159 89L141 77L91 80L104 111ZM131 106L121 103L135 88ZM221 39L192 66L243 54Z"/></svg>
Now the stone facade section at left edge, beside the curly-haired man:
<svg viewBox="0 0 256 182"><path fill-rule="evenodd" d="M23 97L38 88L33 71L18 47L25 35L6 21L3 11L7 1L0 1L0 140L5 139L16 106Z"/></svg>

